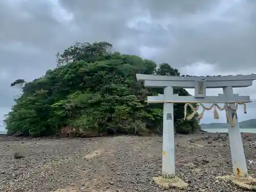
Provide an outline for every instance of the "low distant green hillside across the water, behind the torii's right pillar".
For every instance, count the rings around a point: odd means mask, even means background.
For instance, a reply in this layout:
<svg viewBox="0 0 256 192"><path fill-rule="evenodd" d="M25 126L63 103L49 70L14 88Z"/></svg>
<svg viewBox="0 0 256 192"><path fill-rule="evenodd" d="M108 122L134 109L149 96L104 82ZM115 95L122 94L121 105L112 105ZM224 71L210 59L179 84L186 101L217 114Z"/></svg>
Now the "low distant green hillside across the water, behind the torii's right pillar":
<svg viewBox="0 0 256 192"><path fill-rule="evenodd" d="M201 129L222 129L227 128L227 123L202 123ZM239 122L241 129L256 129L256 119L249 119L246 121Z"/></svg>

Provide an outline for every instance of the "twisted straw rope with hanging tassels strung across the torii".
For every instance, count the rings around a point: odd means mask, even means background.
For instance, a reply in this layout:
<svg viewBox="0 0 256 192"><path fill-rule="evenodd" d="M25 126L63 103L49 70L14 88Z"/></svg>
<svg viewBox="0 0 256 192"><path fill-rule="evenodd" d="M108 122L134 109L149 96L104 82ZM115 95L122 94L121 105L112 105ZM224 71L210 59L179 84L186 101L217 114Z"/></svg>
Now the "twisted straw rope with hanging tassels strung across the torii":
<svg viewBox="0 0 256 192"><path fill-rule="evenodd" d="M232 123L231 123L231 126L235 126L236 125L236 116L237 116L237 110L238 110L238 105L241 104L243 105L244 107L244 114L247 113L246 111L246 104L244 102L238 102L235 104L235 108L233 109L234 110L234 114L232 116ZM227 123L229 123L229 120L228 120L228 114L227 114L227 108L228 108L228 103L225 103L223 105L223 107L221 108L217 103L214 103L212 104L209 108L207 108L204 104L202 103L199 103L196 107L193 106L192 104L190 103L185 103L185 106L184 106L184 120L190 120L192 119L198 112L198 109L199 109L199 105L202 106L203 108L203 111L202 113L200 113L198 115L198 119L202 119L203 118L203 115L204 115L204 111L207 110L207 111L210 111L212 108L214 108L214 119L219 119L219 114L218 114L218 111L217 111L217 108L220 110L220 111L223 111L225 110L226 111L226 120L227 120ZM187 106L190 107L190 109L193 111L191 114L189 114L187 116Z"/></svg>

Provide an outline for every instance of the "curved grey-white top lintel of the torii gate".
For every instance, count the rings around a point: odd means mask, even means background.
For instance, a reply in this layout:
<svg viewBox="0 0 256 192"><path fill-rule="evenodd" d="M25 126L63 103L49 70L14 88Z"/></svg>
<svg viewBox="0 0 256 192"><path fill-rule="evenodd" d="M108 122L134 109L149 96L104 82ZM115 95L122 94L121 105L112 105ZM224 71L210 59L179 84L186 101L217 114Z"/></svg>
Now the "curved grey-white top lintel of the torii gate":
<svg viewBox="0 0 256 192"><path fill-rule="evenodd" d="M195 88L197 82L205 82L206 88L233 87L242 88L252 86L252 81L256 80L256 74L236 75L236 76L215 76L215 77L182 77L182 76L160 76L136 74L138 81L143 81L145 87L179 87Z"/></svg>

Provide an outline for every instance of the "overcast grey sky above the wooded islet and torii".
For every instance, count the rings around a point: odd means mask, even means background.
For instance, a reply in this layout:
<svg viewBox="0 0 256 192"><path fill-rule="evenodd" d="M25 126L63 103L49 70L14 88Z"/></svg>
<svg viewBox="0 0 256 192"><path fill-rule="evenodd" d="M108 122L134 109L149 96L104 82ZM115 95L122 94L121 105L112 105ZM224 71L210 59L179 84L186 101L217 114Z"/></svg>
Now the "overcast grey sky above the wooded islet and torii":
<svg viewBox="0 0 256 192"><path fill-rule="evenodd" d="M256 1L0 1L0 116L17 94L11 82L44 75L56 66L56 52L76 41L109 41L115 50L168 62L182 74L256 73ZM256 81L234 92L255 100L247 115L240 107L239 120L255 118ZM215 121L212 113L202 122ZM223 114L215 122L224 121Z"/></svg>

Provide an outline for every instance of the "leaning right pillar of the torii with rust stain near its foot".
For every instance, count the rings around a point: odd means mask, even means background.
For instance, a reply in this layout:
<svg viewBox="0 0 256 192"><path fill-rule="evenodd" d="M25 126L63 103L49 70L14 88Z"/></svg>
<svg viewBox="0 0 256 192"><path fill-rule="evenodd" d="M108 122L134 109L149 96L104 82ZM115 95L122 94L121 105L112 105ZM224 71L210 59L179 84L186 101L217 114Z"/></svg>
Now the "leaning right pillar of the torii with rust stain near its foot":
<svg viewBox="0 0 256 192"><path fill-rule="evenodd" d="M227 99L232 99L233 97L233 88L232 87L224 87L223 93ZM230 143L230 151L231 151L231 158L233 164L233 174L239 177L247 177L247 165L244 155L244 148L242 137L239 128L238 118L236 118L236 125L231 126L232 124L232 117L236 115L235 104L230 103L228 106L228 135L229 135L229 143ZM237 117L237 116L236 116Z"/></svg>

